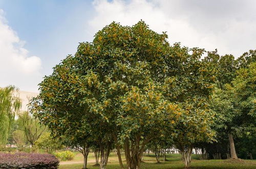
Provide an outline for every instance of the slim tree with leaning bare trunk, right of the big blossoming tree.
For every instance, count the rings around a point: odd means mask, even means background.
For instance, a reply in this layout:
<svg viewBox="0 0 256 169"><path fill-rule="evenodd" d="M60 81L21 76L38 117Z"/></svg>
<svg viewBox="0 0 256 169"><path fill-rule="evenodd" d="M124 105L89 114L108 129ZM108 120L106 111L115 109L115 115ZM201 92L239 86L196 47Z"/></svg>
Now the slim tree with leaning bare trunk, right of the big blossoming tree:
<svg viewBox="0 0 256 169"><path fill-rule="evenodd" d="M234 112L232 110L231 100L227 93L226 85L230 84L234 77L236 77L238 62L234 59L233 55L226 54L224 56L220 56L217 53L217 50L208 52L204 61L208 63L207 70L209 70L216 78L216 88L213 95L214 99L211 100L211 108L217 114L215 129L216 131L222 132L225 128L225 132L229 139L231 157L237 158L233 144L231 126L227 125L228 121L230 121L232 116L234 116Z"/></svg>

